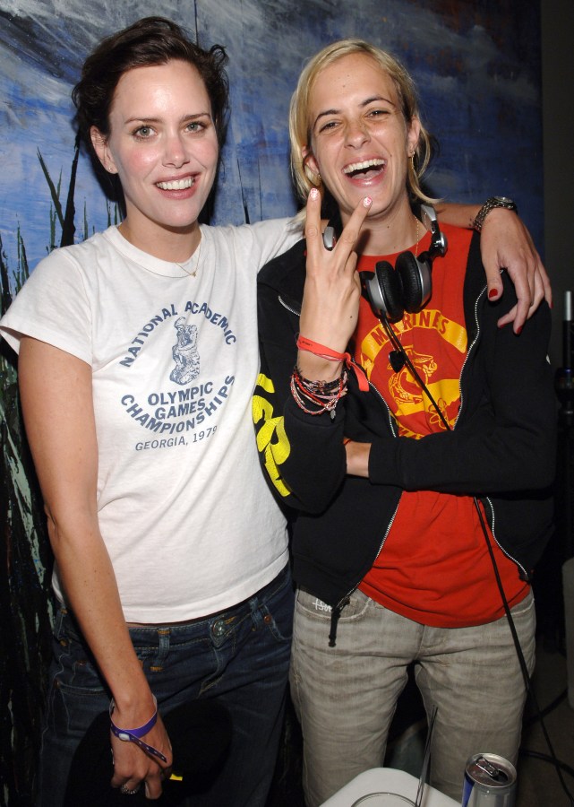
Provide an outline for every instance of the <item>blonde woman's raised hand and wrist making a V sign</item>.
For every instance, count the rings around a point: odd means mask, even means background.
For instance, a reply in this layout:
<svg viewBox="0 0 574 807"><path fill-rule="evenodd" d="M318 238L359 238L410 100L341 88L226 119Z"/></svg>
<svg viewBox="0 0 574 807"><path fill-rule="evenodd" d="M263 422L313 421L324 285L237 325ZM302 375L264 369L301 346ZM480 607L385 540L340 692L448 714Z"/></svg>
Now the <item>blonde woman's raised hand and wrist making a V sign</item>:
<svg viewBox="0 0 574 807"><path fill-rule="evenodd" d="M307 199L307 273L300 334L339 353L347 350L356 328L361 284L354 249L371 204L368 197L357 204L337 244L329 250L322 241L319 192L313 188ZM297 366L313 381L331 381L341 372L339 361L321 359L307 351L299 352Z"/></svg>

